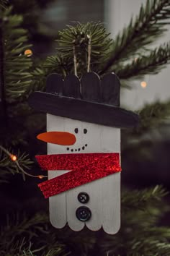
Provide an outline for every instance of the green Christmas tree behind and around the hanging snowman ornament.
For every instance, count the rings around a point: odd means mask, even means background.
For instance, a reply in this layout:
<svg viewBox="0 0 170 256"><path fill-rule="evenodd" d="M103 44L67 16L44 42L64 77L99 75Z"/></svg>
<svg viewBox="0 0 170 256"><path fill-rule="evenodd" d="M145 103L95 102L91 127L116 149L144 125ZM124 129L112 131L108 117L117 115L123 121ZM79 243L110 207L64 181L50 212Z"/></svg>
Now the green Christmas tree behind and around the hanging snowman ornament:
<svg viewBox="0 0 170 256"><path fill-rule="evenodd" d="M30 2L37 8L36 1ZM44 1L37 2L44 6ZM170 1L147 0L114 39L101 23L68 26L58 33L56 54L43 60L32 54L30 34L16 1L1 0L0 8L0 255L169 255L166 189L156 184L134 188L123 178L128 171L131 178L140 171L136 159L144 161L141 152L153 143L141 138L168 118L169 101L136 110L138 128L122 131L122 224L110 236L102 230L74 232L67 226L61 230L51 226L48 202L37 188L43 173L35 161L35 155L46 150L35 138L45 130L45 114L32 111L27 99L33 91L45 90L46 77L53 72L63 77L81 77L89 70L100 77L115 72L122 90L130 88L135 78L158 73L169 63L170 46L150 46L166 32Z"/></svg>

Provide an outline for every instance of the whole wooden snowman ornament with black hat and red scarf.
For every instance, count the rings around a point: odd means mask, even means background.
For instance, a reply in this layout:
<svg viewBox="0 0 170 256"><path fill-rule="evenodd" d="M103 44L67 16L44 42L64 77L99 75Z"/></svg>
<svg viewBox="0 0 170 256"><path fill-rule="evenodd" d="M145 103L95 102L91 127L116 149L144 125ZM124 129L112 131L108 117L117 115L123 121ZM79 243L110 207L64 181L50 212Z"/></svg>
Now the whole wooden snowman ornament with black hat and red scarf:
<svg viewBox="0 0 170 256"><path fill-rule="evenodd" d="M120 128L135 127L138 115L120 108L116 74L94 72L63 78L51 74L46 93L32 93L30 106L47 113L48 155L37 156L48 181L39 184L50 202L50 222L80 231L120 229Z"/></svg>

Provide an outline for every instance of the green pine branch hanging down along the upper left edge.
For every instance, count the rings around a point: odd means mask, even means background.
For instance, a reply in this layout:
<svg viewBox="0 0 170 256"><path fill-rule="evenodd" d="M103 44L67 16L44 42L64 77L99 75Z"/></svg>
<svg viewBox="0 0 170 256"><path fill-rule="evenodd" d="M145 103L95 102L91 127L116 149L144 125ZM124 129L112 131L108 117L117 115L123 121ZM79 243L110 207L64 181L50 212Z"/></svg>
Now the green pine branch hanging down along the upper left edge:
<svg viewBox="0 0 170 256"><path fill-rule="evenodd" d="M24 55L24 50L30 48L26 43L27 31L20 27L22 17L11 12L12 8L9 8L1 13L6 101L9 103L27 95L32 77L32 61Z"/></svg>

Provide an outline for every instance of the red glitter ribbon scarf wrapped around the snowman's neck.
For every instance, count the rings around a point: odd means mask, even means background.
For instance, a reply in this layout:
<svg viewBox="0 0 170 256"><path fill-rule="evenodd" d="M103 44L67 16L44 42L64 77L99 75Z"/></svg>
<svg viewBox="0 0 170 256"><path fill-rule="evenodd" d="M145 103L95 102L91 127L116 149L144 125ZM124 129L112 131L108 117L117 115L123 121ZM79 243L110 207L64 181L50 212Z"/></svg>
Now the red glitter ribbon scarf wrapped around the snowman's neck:
<svg viewBox="0 0 170 256"><path fill-rule="evenodd" d="M70 172L38 184L45 198L121 171L119 153L37 155L44 170Z"/></svg>

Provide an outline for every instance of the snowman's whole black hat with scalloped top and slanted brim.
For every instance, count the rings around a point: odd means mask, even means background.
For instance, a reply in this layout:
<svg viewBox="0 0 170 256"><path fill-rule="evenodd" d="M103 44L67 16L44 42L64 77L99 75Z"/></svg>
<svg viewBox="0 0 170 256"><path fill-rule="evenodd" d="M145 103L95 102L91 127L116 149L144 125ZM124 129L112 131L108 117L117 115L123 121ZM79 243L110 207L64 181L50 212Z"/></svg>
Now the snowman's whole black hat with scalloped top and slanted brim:
<svg viewBox="0 0 170 256"><path fill-rule="evenodd" d="M128 128L138 124L137 114L120 108L120 80L114 73L100 80L98 74L89 72L81 81L73 74L65 80L58 74L50 74L46 93L32 93L29 104L37 111L109 127Z"/></svg>

